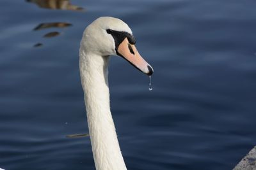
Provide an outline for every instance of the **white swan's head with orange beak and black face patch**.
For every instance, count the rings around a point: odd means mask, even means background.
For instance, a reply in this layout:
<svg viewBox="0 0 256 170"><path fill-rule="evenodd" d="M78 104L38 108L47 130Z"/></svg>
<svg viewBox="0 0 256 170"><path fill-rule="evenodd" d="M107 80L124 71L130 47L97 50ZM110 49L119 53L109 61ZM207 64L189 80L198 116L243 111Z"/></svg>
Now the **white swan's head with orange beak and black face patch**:
<svg viewBox="0 0 256 170"><path fill-rule="evenodd" d="M151 75L153 68L135 47L135 38L125 22L113 17L97 18L86 27L81 46L86 53L100 56L117 55L123 57L145 74Z"/></svg>

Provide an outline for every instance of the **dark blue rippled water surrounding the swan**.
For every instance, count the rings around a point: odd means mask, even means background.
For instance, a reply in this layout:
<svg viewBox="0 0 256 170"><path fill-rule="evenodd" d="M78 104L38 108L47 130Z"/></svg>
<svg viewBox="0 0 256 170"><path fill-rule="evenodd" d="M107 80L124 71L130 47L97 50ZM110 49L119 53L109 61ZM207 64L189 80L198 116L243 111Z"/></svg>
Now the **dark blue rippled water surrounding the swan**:
<svg viewBox="0 0 256 170"><path fill-rule="evenodd" d="M100 16L127 22L155 71L149 91L111 59L128 169L232 169L256 145L255 1L49 1L0 2L1 168L95 169L90 138L66 136L88 132L78 50Z"/></svg>

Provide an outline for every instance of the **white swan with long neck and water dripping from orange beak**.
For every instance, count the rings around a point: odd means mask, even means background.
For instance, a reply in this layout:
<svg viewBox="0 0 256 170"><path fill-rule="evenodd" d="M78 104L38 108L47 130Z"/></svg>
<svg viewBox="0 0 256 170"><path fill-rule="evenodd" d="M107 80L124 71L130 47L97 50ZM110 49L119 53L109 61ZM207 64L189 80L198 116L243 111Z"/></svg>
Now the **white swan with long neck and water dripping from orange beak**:
<svg viewBox="0 0 256 170"><path fill-rule="evenodd" d="M150 76L153 68L138 53L135 43L129 26L118 18L97 18L83 32L79 70L97 170L127 169L109 106L108 62L110 55L117 55Z"/></svg>

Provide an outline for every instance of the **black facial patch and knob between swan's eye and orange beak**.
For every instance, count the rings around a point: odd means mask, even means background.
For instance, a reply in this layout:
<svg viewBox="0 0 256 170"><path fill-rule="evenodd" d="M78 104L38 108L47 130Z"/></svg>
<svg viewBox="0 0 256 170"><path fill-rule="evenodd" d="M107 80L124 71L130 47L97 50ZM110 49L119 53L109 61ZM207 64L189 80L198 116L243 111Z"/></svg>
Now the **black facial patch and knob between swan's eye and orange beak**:
<svg viewBox="0 0 256 170"><path fill-rule="evenodd" d="M120 45L120 43L122 43L124 41L125 38L127 38L129 43L131 43L132 45L134 45L136 43L134 36L132 36L128 32L114 31L112 29L107 29L106 31L108 32L108 34L111 34L115 40L115 50L116 50L117 55L120 55L120 53L118 53L118 51L117 51L118 46ZM131 52L131 50L130 50L130 52Z"/></svg>

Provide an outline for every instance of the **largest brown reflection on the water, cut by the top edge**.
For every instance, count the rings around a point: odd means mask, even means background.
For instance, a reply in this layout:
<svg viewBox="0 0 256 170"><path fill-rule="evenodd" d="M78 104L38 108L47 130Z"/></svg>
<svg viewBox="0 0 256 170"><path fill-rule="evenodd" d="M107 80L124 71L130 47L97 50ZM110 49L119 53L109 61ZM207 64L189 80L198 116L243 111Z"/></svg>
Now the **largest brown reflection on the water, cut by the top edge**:
<svg viewBox="0 0 256 170"><path fill-rule="evenodd" d="M35 3L40 8L49 8L52 10L73 10L83 11L80 6L73 5L69 0L26 0L29 3Z"/></svg>

